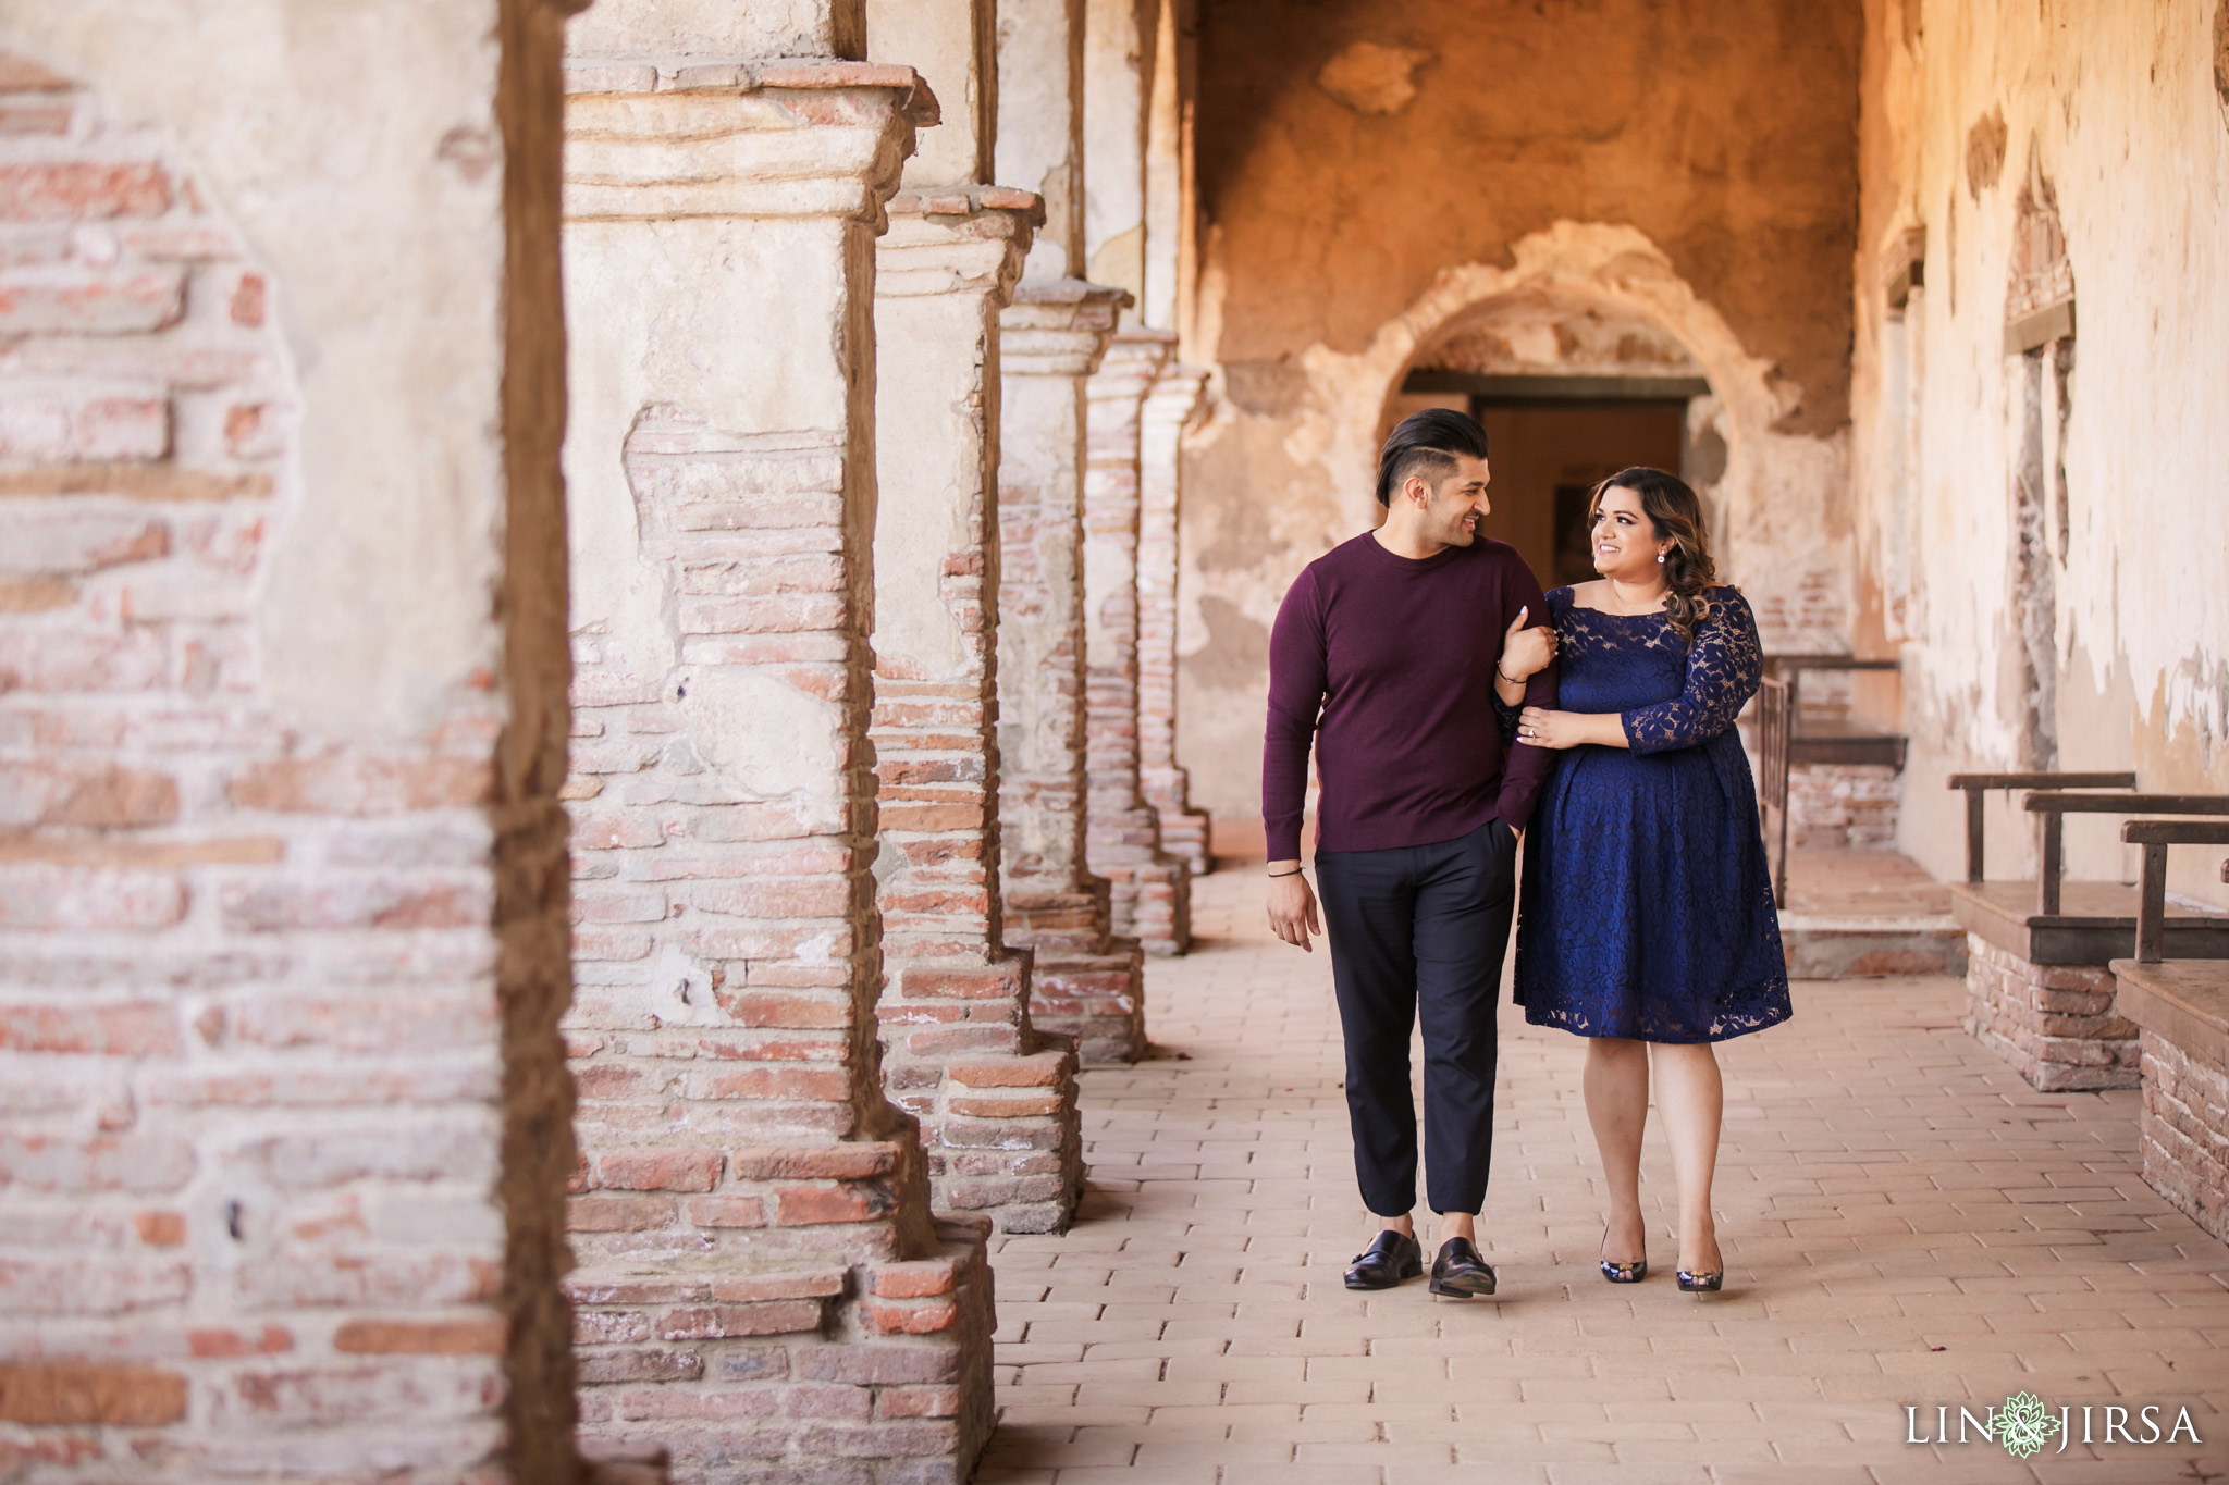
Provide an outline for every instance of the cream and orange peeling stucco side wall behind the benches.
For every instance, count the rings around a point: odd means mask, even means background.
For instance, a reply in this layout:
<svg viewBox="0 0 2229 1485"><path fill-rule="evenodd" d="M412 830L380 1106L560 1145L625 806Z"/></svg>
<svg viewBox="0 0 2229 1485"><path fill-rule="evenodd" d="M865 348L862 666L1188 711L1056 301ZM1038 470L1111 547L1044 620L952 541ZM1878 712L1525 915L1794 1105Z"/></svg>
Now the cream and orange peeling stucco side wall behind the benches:
<svg viewBox="0 0 2229 1485"><path fill-rule="evenodd" d="M1906 661L1904 848L1935 875L1962 871L1941 786L1959 768L2229 790L2220 24L2218 0L1866 7L1857 635ZM2019 227L2053 205L2075 298L2064 394L2048 347L2006 352ZM1921 229L1921 287L1892 316L1884 276ZM2026 570L2022 465L2042 517ZM2222 902L2220 853L2173 857L2176 891ZM2033 862L2002 804L1990 859ZM2118 822L2071 822L2069 871L2133 879Z"/></svg>

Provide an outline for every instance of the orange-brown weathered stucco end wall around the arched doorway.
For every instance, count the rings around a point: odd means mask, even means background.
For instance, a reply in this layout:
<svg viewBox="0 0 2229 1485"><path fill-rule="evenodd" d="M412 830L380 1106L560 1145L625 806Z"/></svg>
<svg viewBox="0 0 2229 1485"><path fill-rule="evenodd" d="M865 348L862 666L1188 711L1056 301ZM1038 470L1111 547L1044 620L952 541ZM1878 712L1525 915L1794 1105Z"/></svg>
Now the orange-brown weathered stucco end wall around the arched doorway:
<svg viewBox="0 0 2229 1485"><path fill-rule="evenodd" d="M1859 31L1855 4L1792 0L1204 7L1184 358L1217 405L1179 619L1201 804L1257 813L1277 601L1369 525L1389 394L1476 321L1538 343L1531 372L1603 370L1554 334L1589 314L1649 327L1634 361L1701 365L1730 577L1768 646L1843 648Z"/></svg>

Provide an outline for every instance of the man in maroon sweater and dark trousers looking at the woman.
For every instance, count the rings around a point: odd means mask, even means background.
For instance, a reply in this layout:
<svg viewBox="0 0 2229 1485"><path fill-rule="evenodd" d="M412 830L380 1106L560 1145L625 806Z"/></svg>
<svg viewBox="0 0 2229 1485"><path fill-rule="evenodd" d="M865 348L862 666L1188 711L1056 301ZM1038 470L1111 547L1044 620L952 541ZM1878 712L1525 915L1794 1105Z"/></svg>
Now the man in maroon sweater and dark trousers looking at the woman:
<svg viewBox="0 0 2229 1485"><path fill-rule="evenodd" d="M1496 704L1556 706L1554 630L1516 548L1478 534L1487 432L1418 412L1378 456L1384 525L1284 594L1268 646L1262 822L1268 917L1311 948L1315 895L1300 817L1315 744L1315 871L1346 1037L1355 1176L1382 1231L1349 1289L1424 1271L1409 1031L1424 1024L1424 1173L1440 1213L1431 1291L1493 1294L1473 1218L1493 1149L1493 1011L1516 906L1518 833L1554 755L1502 755ZM1509 657L1505 661L1505 657Z"/></svg>

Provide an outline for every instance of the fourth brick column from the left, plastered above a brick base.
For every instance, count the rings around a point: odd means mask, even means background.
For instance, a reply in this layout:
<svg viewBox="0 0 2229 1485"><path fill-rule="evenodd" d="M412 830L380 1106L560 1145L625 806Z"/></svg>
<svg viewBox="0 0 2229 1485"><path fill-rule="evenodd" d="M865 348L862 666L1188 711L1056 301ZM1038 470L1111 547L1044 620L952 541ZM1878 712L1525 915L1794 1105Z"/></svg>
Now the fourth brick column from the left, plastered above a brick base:
<svg viewBox="0 0 2229 1485"><path fill-rule="evenodd" d="M1030 1011L1086 1062L1146 1049L1143 953L1108 933L1086 864L1083 383L1128 294L1023 283L1001 316L999 813L1008 942L1036 948Z"/></svg>

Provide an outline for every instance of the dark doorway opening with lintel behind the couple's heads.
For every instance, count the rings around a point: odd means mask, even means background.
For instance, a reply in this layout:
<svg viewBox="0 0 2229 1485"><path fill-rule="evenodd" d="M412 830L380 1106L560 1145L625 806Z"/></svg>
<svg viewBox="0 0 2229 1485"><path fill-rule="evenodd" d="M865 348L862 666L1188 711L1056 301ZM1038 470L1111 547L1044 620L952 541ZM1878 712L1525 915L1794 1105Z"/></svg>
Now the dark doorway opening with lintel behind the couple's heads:
<svg viewBox="0 0 2229 1485"><path fill-rule="evenodd" d="M1493 512L1542 588L1594 577L1587 494L1623 468L1683 472L1687 401L1710 385L1672 376L1471 376L1413 372L1411 394L1469 396L1493 445Z"/></svg>

